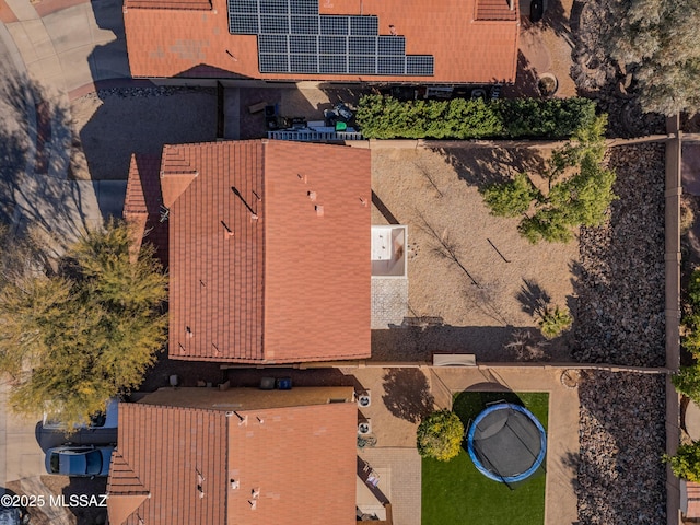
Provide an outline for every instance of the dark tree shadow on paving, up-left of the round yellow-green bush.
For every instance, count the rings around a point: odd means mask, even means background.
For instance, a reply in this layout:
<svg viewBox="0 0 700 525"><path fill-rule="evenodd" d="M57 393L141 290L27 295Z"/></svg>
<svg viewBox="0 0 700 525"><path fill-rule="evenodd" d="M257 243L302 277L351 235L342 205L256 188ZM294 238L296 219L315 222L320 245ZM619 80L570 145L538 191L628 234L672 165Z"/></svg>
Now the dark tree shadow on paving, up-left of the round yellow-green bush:
<svg viewBox="0 0 700 525"><path fill-rule="evenodd" d="M384 405L395 417L417 423L435 407L428 377L419 369L389 369L384 374Z"/></svg>

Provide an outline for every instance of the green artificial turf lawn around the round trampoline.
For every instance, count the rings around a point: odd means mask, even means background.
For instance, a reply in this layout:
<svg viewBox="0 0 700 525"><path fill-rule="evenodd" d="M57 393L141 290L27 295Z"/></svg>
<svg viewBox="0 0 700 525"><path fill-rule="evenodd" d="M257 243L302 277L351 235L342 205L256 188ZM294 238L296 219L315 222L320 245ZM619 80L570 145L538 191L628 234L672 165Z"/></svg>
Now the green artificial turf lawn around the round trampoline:
<svg viewBox="0 0 700 525"><path fill-rule="evenodd" d="M453 410L467 430L469 420L474 420L487 402L501 399L524 405L547 430L549 395L546 393L463 392L455 395ZM510 490L505 483L479 472L466 446L465 442L459 455L447 463L423 459L422 525L542 525L544 469Z"/></svg>

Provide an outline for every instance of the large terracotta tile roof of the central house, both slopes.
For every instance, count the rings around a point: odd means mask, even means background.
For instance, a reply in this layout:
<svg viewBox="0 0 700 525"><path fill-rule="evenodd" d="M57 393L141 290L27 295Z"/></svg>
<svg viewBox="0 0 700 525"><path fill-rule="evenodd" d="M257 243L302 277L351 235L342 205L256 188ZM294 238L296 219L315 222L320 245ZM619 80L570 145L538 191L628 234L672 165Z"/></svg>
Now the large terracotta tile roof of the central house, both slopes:
<svg viewBox="0 0 700 525"><path fill-rule="evenodd" d="M196 172L189 185L175 167ZM370 355L368 150L185 144L165 148L161 173L165 200L173 200L171 358Z"/></svg>

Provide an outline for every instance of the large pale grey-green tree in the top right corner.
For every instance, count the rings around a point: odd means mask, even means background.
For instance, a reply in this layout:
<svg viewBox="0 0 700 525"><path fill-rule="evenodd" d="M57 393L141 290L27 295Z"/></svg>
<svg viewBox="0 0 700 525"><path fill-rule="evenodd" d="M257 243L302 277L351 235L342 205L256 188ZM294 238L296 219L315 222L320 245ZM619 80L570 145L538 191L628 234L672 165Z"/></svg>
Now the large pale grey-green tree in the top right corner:
<svg viewBox="0 0 700 525"><path fill-rule="evenodd" d="M664 115L700 110L700 4L628 0L611 5L619 23L607 35L608 52L633 72L642 108Z"/></svg>

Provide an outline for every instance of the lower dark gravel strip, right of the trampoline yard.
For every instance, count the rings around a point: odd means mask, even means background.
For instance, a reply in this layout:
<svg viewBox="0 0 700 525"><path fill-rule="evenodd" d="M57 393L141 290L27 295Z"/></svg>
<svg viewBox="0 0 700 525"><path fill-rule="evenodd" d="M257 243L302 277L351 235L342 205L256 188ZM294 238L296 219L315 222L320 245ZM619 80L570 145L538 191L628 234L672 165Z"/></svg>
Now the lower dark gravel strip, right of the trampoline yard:
<svg viewBox="0 0 700 525"><path fill-rule="evenodd" d="M581 523L666 523L664 377L584 373L579 396Z"/></svg>

